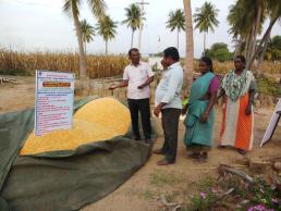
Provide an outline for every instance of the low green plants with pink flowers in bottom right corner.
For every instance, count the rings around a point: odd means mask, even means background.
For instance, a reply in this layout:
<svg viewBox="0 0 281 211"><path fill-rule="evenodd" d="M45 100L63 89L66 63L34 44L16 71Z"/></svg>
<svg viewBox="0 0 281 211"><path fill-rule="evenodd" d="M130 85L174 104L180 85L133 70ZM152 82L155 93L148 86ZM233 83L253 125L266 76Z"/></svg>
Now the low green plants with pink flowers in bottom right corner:
<svg viewBox="0 0 281 211"><path fill-rule="evenodd" d="M209 181L197 184L198 193L194 195L185 210L205 211L220 210L223 203L233 204L237 210L280 210L281 191L277 182L268 183L260 176L255 176L253 183L247 183L241 177L227 175L222 181ZM223 193L234 188L229 196L221 198ZM248 201L247 203L240 203Z"/></svg>

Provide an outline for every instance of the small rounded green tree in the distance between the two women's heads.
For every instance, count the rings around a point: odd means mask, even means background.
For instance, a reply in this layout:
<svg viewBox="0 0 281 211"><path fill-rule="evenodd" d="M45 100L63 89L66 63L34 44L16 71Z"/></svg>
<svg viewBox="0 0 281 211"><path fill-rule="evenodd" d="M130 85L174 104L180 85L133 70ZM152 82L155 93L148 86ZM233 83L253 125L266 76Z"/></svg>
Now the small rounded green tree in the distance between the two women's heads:
<svg viewBox="0 0 281 211"><path fill-rule="evenodd" d="M219 62L232 59L232 53L229 51L228 45L223 42L213 44L210 49L206 50L206 55Z"/></svg>

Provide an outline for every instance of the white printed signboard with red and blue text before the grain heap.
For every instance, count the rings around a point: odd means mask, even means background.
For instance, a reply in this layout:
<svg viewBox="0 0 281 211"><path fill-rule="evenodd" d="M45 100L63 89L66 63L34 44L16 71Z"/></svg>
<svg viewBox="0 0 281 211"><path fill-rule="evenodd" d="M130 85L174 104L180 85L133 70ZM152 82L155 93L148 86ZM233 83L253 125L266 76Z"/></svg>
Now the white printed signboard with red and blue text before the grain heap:
<svg viewBox="0 0 281 211"><path fill-rule="evenodd" d="M74 74L36 71L35 135L73 125Z"/></svg>

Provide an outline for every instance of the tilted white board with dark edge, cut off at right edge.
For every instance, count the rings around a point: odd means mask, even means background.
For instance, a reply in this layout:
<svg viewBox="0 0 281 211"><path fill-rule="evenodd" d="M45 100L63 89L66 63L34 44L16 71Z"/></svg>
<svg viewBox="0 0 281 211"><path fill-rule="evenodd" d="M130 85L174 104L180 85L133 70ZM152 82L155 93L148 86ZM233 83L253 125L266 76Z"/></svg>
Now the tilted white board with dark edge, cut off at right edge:
<svg viewBox="0 0 281 211"><path fill-rule="evenodd" d="M266 134L260 142L260 147L262 147L262 145L265 145L267 141L269 141L272 138L274 131L277 128L278 122L280 120L280 116L281 116L281 99L278 100L274 113L271 116Z"/></svg>

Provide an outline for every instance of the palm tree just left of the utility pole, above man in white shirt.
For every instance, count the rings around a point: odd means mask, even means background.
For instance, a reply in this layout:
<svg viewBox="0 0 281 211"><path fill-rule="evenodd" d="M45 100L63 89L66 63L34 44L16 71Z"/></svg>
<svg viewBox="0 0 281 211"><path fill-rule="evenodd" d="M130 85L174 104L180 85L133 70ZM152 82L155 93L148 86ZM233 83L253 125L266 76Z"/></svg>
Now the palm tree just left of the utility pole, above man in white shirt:
<svg viewBox="0 0 281 211"><path fill-rule="evenodd" d="M126 18L122 23L132 29L131 48L133 48L134 33L140 27L143 18L140 8L132 3L129 8L125 8L125 16Z"/></svg>

